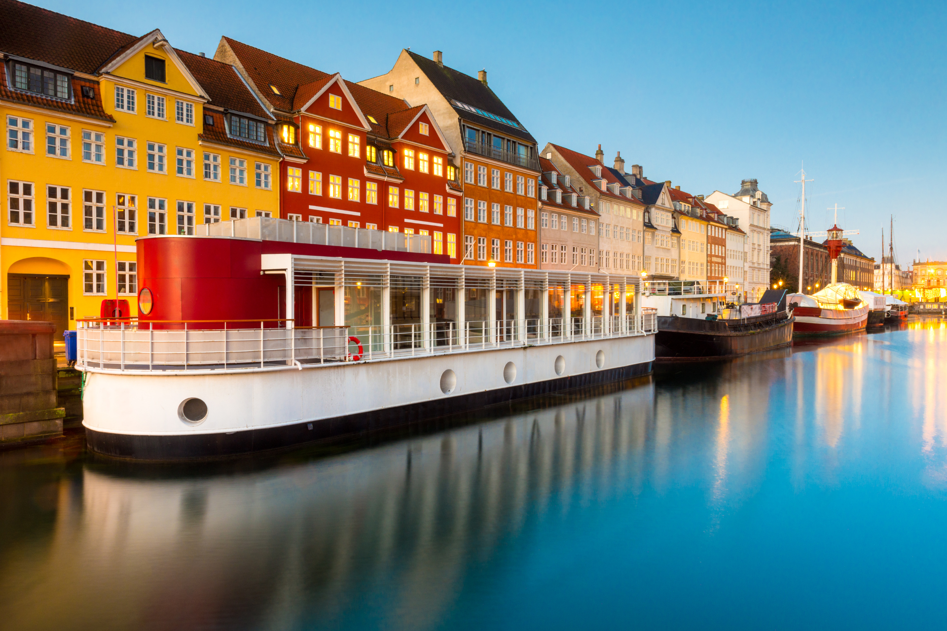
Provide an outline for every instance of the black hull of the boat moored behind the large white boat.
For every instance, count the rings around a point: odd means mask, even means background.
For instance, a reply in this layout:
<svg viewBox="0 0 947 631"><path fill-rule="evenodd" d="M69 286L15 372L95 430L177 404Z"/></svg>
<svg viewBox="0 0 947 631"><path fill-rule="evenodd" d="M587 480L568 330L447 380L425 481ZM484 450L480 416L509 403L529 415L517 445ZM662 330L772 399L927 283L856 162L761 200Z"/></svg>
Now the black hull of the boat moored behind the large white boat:
<svg viewBox="0 0 947 631"><path fill-rule="evenodd" d="M655 361L726 359L793 343L791 316L735 326L722 321L658 318Z"/></svg>

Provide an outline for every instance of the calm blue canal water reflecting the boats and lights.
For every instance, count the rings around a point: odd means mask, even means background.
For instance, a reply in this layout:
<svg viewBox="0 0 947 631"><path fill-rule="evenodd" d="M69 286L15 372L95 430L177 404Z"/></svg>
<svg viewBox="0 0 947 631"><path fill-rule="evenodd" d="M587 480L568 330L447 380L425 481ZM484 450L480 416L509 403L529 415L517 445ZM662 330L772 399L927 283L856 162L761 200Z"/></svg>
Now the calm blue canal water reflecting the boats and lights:
<svg viewBox="0 0 947 631"><path fill-rule="evenodd" d="M0 626L942 627L945 377L917 320L331 451L8 450Z"/></svg>

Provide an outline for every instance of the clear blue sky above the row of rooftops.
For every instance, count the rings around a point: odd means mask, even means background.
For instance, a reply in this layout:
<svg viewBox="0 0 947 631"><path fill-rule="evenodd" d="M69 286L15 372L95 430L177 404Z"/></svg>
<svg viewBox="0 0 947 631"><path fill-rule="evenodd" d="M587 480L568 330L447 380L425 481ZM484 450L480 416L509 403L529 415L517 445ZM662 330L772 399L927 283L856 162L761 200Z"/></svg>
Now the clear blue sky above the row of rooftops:
<svg viewBox="0 0 947 631"><path fill-rule="evenodd" d="M880 250L895 216L899 261L947 259L947 4L182 2L52 0L47 9L213 55L222 35L361 80L402 47L491 88L537 138L594 153L695 194L757 178L773 221L857 229ZM924 211L924 212L921 212Z"/></svg>

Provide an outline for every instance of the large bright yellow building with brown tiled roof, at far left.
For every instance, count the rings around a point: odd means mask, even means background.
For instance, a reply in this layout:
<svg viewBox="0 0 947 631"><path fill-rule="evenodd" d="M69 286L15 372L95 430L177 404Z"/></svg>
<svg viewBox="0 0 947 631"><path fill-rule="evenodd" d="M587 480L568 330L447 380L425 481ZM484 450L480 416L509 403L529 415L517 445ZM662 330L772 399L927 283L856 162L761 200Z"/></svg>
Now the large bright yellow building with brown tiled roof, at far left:
<svg viewBox="0 0 947 631"><path fill-rule="evenodd" d="M21 25L0 31L0 318L51 320L62 339L106 298L135 315L136 237L278 216L272 117L232 66L160 30L0 4Z"/></svg>

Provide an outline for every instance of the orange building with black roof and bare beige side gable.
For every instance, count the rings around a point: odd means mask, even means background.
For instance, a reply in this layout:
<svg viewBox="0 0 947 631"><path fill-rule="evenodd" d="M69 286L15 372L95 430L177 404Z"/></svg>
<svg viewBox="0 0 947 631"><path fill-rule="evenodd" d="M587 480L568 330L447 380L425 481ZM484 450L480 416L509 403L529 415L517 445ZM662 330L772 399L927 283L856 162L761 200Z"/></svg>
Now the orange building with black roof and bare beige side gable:
<svg viewBox="0 0 947 631"><path fill-rule="evenodd" d="M461 262L537 269L536 140L488 86L487 71L474 79L444 65L440 51L427 59L405 49L390 71L360 84L430 108L462 174Z"/></svg>

